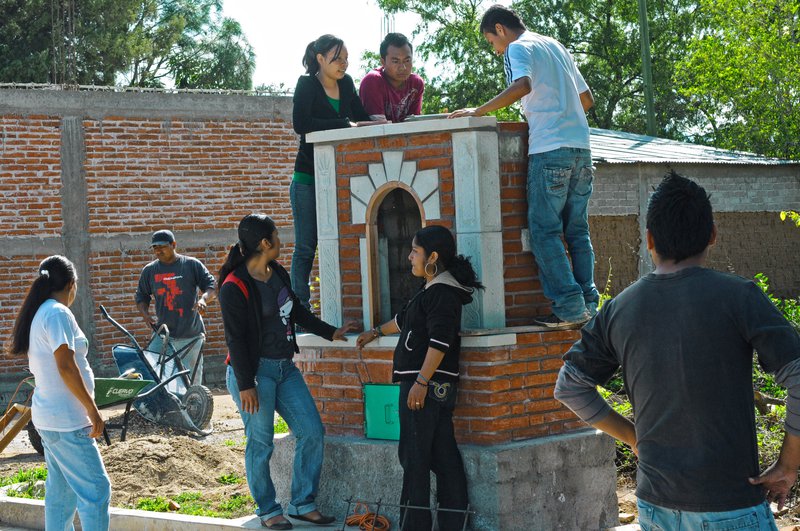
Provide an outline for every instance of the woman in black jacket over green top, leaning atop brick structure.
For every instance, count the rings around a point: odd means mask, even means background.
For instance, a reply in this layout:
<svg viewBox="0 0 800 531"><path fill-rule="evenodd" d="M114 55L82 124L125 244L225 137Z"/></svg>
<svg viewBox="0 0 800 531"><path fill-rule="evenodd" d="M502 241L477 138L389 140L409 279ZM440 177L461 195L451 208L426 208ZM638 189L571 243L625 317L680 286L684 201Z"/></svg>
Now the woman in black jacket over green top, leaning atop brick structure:
<svg viewBox="0 0 800 531"><path fill-rule="evenodd" d="M317 251L317 202L314 190L314 146L306 135L326 129L387 123L370 121L347 70L347 48L342 39L323 35L309 43L303 56L305 75L294 89L294 130L300 135L300 149L289 188L294 218L292 285L300 303L309 307L308 277Z"/></svg>

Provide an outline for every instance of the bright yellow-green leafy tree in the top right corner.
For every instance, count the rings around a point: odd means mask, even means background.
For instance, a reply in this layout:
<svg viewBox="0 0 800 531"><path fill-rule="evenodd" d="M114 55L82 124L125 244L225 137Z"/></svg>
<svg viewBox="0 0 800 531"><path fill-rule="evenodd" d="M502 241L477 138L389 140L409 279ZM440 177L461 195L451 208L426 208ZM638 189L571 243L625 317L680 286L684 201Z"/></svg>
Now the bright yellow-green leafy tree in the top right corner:
<svg viewBox="0 0 800 531"><path fill-rule="evenodd" d="M800 4L702 0L708 24L677 65L706 117L699 139L800 159Z"/></svg>

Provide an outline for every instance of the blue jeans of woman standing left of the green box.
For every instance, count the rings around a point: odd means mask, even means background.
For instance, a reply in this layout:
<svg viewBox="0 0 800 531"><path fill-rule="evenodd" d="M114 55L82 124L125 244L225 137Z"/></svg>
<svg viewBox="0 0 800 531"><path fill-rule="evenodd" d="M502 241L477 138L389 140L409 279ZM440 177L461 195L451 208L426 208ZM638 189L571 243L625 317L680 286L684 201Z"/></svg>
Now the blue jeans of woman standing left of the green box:
<svg viewBox="0 0 800 531"><path fill-rule="evenodd" d="M262 519L268 519L283 513L281 505L275 500L275 484L269 471L275 411L283 417L296 438L292 499L288 512L292 515L303 515L315 510L322 471L325 428L314 398L294 362L289 359L261 358L256 372L258 412L254 415L242 411L239 387L230 366L226 383L244 422L244 434L247 436L244 467L250 493L256 502L256 514Z"/></svg>

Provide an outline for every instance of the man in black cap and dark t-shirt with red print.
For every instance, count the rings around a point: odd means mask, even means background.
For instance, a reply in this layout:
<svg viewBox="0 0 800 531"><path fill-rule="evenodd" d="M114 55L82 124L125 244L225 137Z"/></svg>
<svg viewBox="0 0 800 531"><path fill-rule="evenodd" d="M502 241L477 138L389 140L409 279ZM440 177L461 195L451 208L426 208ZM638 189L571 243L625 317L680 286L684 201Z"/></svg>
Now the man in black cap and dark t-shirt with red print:
<svg viewBox="0 0 800 531"><path fill-rule="evenodd" d="M136 289L136 306L149 327L154 330L162 324L169 327L170 344L176 352L191 344L185 356L181 357L184 366L194 371L192 384L201 384L203 358L200 349L205 341L201 315L216 297L214 277L200 260L175 252L177 244L172 231L153 233L150 246L157 259L142 269ZM202 294L199 298L198 291ZM150 315L151 298L155 298L155 316ZM156 335L147 348L160 352L162 346L162 338Z"/></svg>

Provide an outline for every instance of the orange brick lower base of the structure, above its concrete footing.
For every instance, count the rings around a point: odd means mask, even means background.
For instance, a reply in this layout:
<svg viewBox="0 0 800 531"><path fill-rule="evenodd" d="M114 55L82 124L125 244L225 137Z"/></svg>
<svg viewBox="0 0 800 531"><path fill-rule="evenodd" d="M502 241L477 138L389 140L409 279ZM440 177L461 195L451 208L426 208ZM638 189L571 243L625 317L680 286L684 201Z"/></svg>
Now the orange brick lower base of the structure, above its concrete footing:
<svg viewBox="0 0 800 531"><path fill-rule="evenodd" d="M462 444L491 445L585 425L553 398L561 356L578 332L519 334L517 344L462 348L454 413ZM362 382L391 381L391 349L306 348L295 357L328 434L363 435Z"/></svg>

